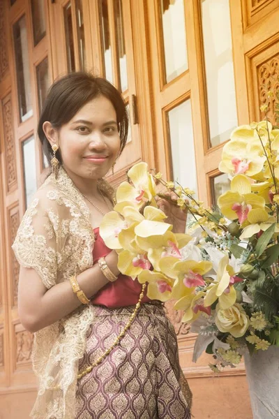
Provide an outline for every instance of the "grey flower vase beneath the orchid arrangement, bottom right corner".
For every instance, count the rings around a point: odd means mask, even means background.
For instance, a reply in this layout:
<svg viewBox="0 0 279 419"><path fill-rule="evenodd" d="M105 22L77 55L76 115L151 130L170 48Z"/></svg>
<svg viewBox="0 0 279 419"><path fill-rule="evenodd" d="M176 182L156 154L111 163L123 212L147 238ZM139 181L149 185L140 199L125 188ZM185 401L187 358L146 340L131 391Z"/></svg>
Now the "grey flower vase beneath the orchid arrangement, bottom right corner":
<svg viewBox="0 0 279 419"><path fill-rule="evenodd" d="M279 347L244 355L253 419L279 419Z"/></svg>

